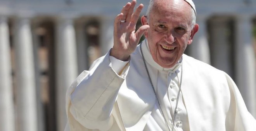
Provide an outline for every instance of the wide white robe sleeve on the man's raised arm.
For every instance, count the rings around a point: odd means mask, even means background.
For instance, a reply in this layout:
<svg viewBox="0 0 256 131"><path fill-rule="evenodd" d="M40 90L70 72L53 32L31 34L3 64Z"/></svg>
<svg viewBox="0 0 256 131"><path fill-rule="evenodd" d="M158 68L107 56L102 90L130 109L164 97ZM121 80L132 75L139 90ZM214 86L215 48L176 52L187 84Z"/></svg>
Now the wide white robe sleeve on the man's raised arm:
<svg viewBox="0 0 256 131"><path fill-rule="evenodd" d="M112 108L128 68L126 65L120 75L117 74L108 53L96 60L90 71L78 76L66 94L67 131L106 131L111 128Z"/></svg>

